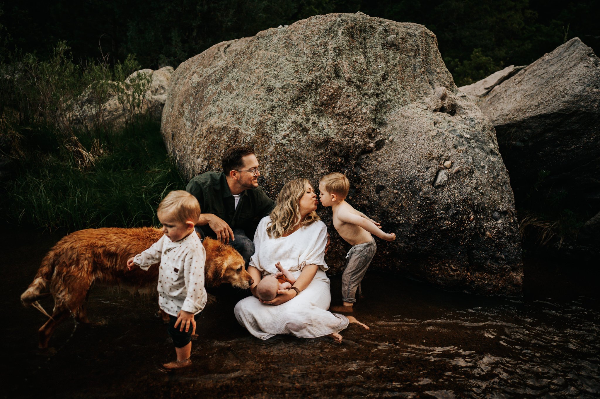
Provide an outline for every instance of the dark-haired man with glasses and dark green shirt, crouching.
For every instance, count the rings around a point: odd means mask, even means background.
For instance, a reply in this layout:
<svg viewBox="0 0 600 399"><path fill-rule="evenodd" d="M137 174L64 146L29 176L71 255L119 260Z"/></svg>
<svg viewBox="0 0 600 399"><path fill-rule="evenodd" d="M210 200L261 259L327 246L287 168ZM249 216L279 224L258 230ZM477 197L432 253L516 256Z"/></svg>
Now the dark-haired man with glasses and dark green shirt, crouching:
<svg viewBox="0 0 600 399"><path fill-rule="evenodd" d="M196 231L231 244L248 264L254 253L252 230L275 202L259 187L259 161L251 147L227 149L222 165L222 173L203 173L185 188L200 203Z"/></svg>

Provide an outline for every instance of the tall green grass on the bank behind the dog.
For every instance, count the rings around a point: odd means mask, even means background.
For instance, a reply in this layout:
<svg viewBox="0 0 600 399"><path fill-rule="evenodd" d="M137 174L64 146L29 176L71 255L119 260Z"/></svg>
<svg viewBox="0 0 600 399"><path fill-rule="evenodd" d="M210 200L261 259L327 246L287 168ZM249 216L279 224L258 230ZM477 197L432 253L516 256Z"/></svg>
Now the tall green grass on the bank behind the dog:
<svg viewBox="0 0 600 399"><path fill-rule="evenodd" d="M53 145L52 128L41 126L28 137L26 147L36 141L44 147L19 159L16 177L4 185L2 209L9 223L70 231L158 225L158 203L167 192L185 188L160 124L149 119L104 132L101 155L86 168Z"/></svg>

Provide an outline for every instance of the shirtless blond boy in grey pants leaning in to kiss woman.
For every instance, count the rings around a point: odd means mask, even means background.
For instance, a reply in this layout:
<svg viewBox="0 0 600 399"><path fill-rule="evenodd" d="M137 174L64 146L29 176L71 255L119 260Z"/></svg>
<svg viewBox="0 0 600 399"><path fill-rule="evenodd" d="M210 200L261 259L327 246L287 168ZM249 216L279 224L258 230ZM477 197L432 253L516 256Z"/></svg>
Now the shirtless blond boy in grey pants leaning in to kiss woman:
<svg viewBox="0 0 600 399"><path fill-rule="evenodd" d="M344 201L350 189L350 182L341 173L330 173L319 181L319 198L325 207L333 211L334 227L341 238L352 245L346 255L346 268L341 276L343 306L332 307L334 312L352 312L356 302L356 291L362 295L361 281L375 255L377 246L373 236L386 241L394 241L394 233L385 233L375 220L357 211Z"/></svg>

